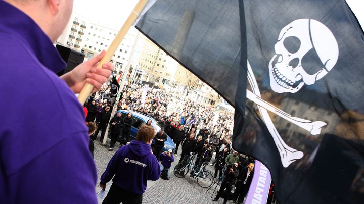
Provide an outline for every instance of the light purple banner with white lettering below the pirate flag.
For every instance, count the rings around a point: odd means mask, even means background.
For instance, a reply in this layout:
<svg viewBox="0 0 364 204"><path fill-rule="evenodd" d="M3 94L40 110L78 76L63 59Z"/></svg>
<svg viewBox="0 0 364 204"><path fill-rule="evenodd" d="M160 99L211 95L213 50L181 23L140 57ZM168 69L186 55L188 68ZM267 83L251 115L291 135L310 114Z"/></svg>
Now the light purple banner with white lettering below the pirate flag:
<svg viewBox="0 0 364 204"><path fill-rule="evenodd" d="M246 204L265 204L270 187L270 172L258 160L255 160L253 180L245 200Z"/></svg>

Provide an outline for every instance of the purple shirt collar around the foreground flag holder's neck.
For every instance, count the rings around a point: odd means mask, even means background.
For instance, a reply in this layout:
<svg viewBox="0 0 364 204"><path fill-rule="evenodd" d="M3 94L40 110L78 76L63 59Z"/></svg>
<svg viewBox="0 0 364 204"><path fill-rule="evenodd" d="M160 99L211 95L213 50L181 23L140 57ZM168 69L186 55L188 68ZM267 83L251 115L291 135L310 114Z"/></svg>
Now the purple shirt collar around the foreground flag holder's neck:
<svg viewBox="0 0 364 204"><path fill-rule="evenodd" d="M66 67L51 39L25 13L7 2L0 1L0 31L21 41L39 62L53 72Z"/></svg>

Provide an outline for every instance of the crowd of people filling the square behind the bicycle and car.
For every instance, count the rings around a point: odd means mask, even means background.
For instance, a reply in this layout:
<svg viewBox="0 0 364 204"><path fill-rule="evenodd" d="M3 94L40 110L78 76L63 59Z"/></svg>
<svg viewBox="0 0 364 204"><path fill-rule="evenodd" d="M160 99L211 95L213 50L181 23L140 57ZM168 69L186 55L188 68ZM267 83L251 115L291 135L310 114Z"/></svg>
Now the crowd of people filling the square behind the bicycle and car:
<svg viewBox="0 0 364 204"><path fill-rule="evenodd" d="M103 140L111 118L109 150L113 150L117 137L129 139L132 120L131 113L124 118L121 117L121 112L111 116L112 104L109 93L107 86L94 93L90 96L85 109L88 112L86 121L96 121L98 124L93 139L101 130L100 141ZM232 149L233 116L230 114L216 116L213 107L187 98L183 100L182 108L178 113L173 109L176 106L172 100L163 90L150 90L141 84L129 83L123 88L122 97L117 101L117 111L137 111L149 115L158 122L161 129L154 135L155 143L152 145L152 153L157 161L160 161L161 175L165 172L165 176L161 178L166 180L170 178L171 163L178 156L178 152L180 152L178 163L185 162L193 152L197 156L194 161L195 166L200 168L204 162L210 163L215 169L214 178L221 180L221 187L214 200L223 197L224 202L230 199L242 203L252 179L254 159L239 155ZM168 106L172 106L172 110ZM146 125L149 125L148 122ZM161 152L167 135L175 143L174 152L172 149ZM232 186L235 186L234 193L231 193Z"/></svg>

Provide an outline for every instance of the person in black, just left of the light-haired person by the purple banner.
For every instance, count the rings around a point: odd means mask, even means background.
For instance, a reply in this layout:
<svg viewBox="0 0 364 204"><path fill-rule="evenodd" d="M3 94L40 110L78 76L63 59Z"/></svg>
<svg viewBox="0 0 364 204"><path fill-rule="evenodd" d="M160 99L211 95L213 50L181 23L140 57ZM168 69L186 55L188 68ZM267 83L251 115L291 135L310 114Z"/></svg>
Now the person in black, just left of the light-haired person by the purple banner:
<svg viewBox="0 0 364 204"><path fill-rule="evenodd" d="M217 201L220 197L224 198L224 204L228 203L229 195L231 191L231 185L235 183L236 174L234 170L236 170L238 164L235 165L228 165L228 169L225 171L225 180L221 183L220 190L217 192L216 197L212 201ZM226 189L226 190L225 190ZM224 193L225 190L225 193Z"/></svg>

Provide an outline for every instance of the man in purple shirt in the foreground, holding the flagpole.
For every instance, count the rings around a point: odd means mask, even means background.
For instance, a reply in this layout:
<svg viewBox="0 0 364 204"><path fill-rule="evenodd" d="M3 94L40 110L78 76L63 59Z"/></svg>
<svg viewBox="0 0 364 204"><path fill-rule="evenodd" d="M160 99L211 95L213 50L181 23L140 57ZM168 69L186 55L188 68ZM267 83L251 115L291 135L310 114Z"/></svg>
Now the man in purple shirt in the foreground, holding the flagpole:
<svg viewBox="0 0 364 204"><path fill-rule="evenodd" d="M6 107L0 120L1 203L97 203L96 167L75 93L85 82L100 88L113 66L95 69L102 53L57 77L66 64L53 42L72 5L0 0L0 94L13 101L0 100Z"/></svg>

